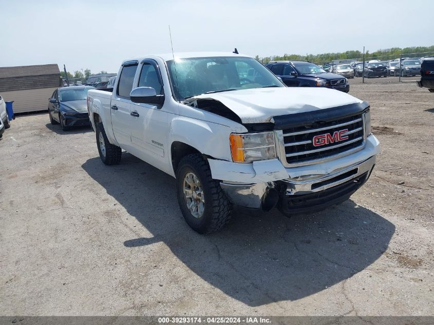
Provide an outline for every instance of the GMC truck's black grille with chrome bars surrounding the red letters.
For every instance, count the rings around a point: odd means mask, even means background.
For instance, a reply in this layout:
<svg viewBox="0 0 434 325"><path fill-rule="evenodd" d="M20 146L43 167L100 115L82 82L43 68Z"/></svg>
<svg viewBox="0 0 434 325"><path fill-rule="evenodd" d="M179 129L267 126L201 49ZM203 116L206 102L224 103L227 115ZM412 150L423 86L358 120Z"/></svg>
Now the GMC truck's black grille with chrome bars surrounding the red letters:
<svg viewBox="0 0 434 325"><path fill-rule="evenodd" d="M310 126L293 127L283 130L285 143L285 155L288 164L299 164L311 160L324 159L338 155L344 151L361 146L364 142L363 114L357 114L332 122L318 122ZM342 136L348 139L342 141L329 141L324 145L315 146L313 139L329 133L330 137L335 132L348 129ZM337 136L337 135L336 135Z"/></svg>

